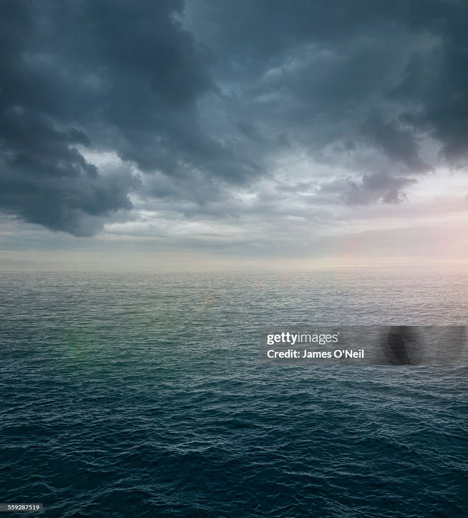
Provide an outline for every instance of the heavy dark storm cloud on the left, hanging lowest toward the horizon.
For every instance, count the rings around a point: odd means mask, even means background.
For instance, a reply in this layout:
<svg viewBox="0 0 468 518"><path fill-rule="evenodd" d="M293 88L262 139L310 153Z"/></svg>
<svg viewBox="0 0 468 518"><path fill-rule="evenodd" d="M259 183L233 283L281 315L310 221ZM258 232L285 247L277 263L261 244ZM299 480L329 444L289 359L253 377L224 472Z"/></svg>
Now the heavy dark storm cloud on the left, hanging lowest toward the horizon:
<svg viewBox="0 0 468 518"><path fill-rule="evenodd" d="M76 146L184 177L184 164L222 157L234 175L229 149L198 128L196 99L214 85L173 19L181 8L140 0L2 3L1 209L91 235L101 217L131 208L128 195L140 182L130 168L103 174Z"/></svg>

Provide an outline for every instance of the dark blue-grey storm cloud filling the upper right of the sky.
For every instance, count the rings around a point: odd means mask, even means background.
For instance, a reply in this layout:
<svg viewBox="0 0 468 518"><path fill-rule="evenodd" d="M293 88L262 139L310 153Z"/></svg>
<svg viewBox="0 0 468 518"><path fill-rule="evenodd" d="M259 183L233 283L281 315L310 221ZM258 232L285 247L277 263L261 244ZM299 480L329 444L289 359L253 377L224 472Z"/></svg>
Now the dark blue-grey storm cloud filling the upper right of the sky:
<svg viewBox="0 0 468 518"><path fill-rule="evenodd" d="M216 75L225 90L233 83L243 91L239 117L246 107L250 119L281 128L315 159L369 148L387 161L377 161L376 170L385 165L390 178L401 170L416 178L437 165L421 151L428 136L448 164L466 159L465 2L236 0L221 8L215 0L192 0L187 6L188 26L217 50ZM372 165L354 171L374 172ZM380 199L402 197L387 194Z"/></svg>

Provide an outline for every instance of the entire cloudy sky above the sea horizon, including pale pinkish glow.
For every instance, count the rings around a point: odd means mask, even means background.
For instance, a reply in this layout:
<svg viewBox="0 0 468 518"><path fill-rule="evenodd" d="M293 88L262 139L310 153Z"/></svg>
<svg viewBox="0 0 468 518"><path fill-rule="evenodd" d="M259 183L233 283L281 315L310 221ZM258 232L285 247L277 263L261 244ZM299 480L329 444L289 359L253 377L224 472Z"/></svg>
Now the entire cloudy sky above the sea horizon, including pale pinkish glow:
<svg viewBox="0 0 468 518"><path fill-rule="evenodd" d="M4 0L0 268L466 264L464 0Z"/></svg>

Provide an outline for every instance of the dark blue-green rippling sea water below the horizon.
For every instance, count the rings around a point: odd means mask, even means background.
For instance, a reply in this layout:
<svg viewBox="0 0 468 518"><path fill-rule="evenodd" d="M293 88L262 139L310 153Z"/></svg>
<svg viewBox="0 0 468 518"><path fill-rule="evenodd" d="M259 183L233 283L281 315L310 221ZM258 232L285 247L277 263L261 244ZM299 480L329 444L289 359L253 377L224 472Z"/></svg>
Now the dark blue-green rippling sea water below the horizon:
<svg viewBox="0 0 468 518"><path fill-rule="evenodd" d="M463 272L0 286L0 501L51 517L466 516L466 368L258 362L261 324L465 325Z"/></svg>

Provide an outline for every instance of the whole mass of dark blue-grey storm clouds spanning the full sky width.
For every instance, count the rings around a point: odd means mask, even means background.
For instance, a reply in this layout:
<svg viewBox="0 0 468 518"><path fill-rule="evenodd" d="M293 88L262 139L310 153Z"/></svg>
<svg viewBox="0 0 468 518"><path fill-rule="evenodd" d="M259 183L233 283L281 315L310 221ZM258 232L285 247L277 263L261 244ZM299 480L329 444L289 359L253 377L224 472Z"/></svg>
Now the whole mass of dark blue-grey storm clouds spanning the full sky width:
<svg viewBox="0 0 468 518"><path fill-rule="evenodd" d="M349 174L285 193L398 203L429 137L468 158L466 26L461 0L5 0L0 210L92 235L132 193L222 203L295 152Z"/></svg>

